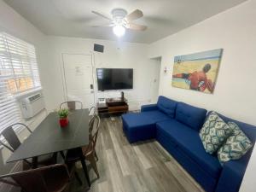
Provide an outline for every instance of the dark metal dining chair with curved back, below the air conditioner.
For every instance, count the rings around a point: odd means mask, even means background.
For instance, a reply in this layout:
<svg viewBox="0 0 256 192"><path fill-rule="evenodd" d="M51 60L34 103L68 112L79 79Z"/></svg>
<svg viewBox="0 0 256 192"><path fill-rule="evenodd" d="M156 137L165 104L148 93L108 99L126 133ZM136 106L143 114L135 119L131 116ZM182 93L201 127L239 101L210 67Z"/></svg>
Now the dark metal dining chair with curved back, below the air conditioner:
<svg viewBox="0 0 256 192"><path fill-rule="evenodd" d="M0 137L3 137L8 144L4 143L2 141L0 141L0 144L3 145L3 147L8 148L9 151L11 151L12 153L15 152L15 150L17 148L19 148L21 145L20 139L18 138L18 136L15 133L15 129L14 129L15 126L22 126L22 127L26 128L26 130L29 133L32 133L31 129L29 129L29 127L27 125L22 124L22 123L15 123L15 124L9 125L9 127L5 128L0 133ZM45 154L45 155L38 157L39 165L48 166L50 164L54 164L55 162L56 162L56 154ZM23 160L23 168L28 169L30 167L32 167L32 160Z"/></svg>

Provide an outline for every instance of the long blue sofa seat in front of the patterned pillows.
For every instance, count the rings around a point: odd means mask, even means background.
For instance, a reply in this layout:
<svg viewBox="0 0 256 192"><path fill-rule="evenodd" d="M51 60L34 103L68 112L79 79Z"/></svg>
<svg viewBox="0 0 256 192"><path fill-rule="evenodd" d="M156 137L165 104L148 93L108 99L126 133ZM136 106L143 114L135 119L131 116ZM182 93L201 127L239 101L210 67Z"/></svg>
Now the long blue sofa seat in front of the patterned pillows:
<svg viewBox="0 0 256 192"><path fill-rule="evenodd" d="M207 154L199 137L199 133L175 119L169 119L156 124L156 131L163 131L177 147L195 161L211 177L217 178L222 166L216 156ZM192 165L191 165L192 166Z"/></svg>

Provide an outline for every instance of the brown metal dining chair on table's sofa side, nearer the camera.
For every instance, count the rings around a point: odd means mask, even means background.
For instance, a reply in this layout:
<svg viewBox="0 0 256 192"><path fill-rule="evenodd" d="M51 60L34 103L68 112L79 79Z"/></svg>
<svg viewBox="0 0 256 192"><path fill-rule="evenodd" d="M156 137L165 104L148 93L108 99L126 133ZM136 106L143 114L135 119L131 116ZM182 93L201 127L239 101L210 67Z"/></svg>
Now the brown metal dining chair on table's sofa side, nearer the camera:
<svg viewBox="0 0 256 192"><path fill-rule="evenodd" d="M90 162L90 165L96 172L96 176L100 177L99 172L97 170L96 166L96 140L98 136L99 127L101 124L101 119L98 115L94 116L94 120L91 122L92 129L90 131L91 135L89 134L90 142L87 146L82 147L82 151L84 154L84 159L88 160ZM94 126L96 125L96 126ZM73 161L79 161L79 148L70 149L67 151L66 155L66 161L67 162L73 162Z"/></svg>

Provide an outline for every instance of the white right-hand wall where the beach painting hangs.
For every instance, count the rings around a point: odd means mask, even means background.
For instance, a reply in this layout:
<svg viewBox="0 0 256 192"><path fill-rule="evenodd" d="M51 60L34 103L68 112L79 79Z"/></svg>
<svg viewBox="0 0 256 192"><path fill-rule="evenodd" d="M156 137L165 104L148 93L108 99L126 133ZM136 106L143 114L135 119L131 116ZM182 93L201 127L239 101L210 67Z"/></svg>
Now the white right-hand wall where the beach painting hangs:
<svg viewBox="0 0 256 192"><path fill-rule="evenodd" d="M251 0L150 45L148 55L162 56L160 95L216 110L256 125L256 1ZM172 87L175 55L224 49L214 93ZM168 74L163 74L167 67ZM256 150L247 166L241 191L256 191Z"/></svg>

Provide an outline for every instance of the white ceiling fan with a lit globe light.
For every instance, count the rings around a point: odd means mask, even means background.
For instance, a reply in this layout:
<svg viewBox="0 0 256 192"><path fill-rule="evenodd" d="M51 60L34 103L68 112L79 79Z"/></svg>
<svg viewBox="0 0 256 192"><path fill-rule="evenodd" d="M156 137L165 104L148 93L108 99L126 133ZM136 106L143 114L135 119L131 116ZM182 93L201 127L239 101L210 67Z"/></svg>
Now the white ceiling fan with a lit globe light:
<svg viewBox="0 0 256 192"><path fill-rule="evenodd" d="M135 11L131 12L131 14L127 14L127 11L125 9L113 9L111 11L112 18L102 15L101 13L97 11L91 11L93 14L96 14L98 16L101 16L102 18L109 20L110 23L107 26L113 27L113 33L121 37L125 35L126 29L136 30L136 31L145 31L147 29L147 26L138 25L136 23L133 23L133 20L137 20L141 17L143 17L143 12L139 9L136 9ZM95 26L99 27L99 26Z"/></svg>

